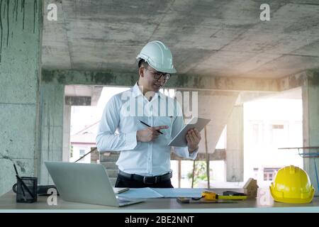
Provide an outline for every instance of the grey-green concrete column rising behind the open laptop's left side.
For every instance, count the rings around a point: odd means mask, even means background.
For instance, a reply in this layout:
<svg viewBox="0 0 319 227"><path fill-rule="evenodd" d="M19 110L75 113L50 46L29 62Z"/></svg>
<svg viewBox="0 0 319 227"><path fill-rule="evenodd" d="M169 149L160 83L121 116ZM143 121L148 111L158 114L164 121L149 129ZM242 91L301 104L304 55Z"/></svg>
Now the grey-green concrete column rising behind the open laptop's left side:
<svg viewBox="0 0 319 227"><path fill-rule="evenodd" d="M51 184L45 161L62 161L63 84L45 83L40 87L40 153L38 177L40 184Z"/></svg>

